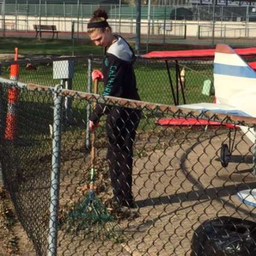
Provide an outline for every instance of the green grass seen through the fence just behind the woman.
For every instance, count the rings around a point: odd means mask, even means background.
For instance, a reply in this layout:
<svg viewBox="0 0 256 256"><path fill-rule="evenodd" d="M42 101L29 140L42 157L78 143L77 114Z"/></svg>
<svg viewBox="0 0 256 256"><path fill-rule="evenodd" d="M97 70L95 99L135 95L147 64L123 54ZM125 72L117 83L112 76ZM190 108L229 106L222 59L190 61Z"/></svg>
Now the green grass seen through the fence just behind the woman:
<svg viewBox="0 0 256 256"><path fill-rule="evenodd" d="M187 103L212 101L210 97L201 94L204 80L212 79L212 65L207 64L206 66L207 69L202 71L193 71L190 67L186 69L184 91ZM93 67L100 68L100 64L94 64ZM88 91L87 70L88 65L86 59L75 63L75 76L73 77L74 90L80 90L82 92ZM158 63L158 67L155 67L154 61L148 64L145 64L143 61L138 61L135 64L135 74L141 100L159 104L174 104L170 81L168 80L164 63ZM6 78L9 76L9 67L2 67L2 76ZM176 88L175 72L172 71L172 69L171 77L174 82L174 87ZM36 71L28 71L24 65L20 65L19 81L47 86L55 86L61 83L60 80L53 80L52 64L37 64ZM102 88L102 84L100 83L100 92ZM180 90L179 99L180 103L183 103Z"/></svg>

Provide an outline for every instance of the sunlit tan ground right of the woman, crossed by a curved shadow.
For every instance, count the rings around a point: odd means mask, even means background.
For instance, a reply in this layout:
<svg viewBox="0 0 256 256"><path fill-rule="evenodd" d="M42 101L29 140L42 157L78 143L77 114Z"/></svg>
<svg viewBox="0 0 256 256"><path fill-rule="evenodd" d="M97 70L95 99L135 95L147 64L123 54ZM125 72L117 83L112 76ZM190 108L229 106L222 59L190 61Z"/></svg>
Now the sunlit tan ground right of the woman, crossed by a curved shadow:
<svg viewBox="0 0 256 256"><path fill-rule="evenodd" d="M142 255L190 255L193 230L204 220L222 215L255 218L254 208L237 199L238 191L256 185L249 142L238 135L240 143L223 168L218 156L225 140L222 134L172 146L135 163L134 193L141 207L136 221L141 232L127 242L131 250Z"/></svg>

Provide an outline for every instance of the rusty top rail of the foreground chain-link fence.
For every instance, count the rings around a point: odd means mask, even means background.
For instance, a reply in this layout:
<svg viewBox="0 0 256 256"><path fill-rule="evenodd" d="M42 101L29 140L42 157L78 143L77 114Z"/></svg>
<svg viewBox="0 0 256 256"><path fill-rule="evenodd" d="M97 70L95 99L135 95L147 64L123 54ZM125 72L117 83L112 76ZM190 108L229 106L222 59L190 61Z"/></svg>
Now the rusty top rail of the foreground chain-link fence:
<svg viewBox="0 0 256 256"><path fill-rule="evenodd" d="M158 113L170 113L174 117L179 118L182 117L193 117L193 118L203 118L208 120L220 120L221 122L237 122L242 125L247 123L248 125L255 126L256 125L256 118L254 117L244 117L241 115L227 115L227 114L220 114L215 112L201 112L199 110L192 110L192 109L185 109L179 108L179 106L172 106L172 105L164 105L164 104L154 104L151 102L144 102L144 101L136 101L136 100L128 100L125 98L117 98L117 97L102 97L99 94L93 93L86 93L86 92L79 92L76 90L68 90L62 89L60 85L56 85L54 88L45 85L38 85L38 84L26 84L23 82L14 82L13 80L3 79L0 77L0 82L5 84L10 84L14 86L18 86L20 88L26 88L27 90L37 90L37 91L46 91L52 93L59 93L63 96L71 96L74 98L81 98L90 100L92 102L98 102L100 104L107 104L107 105L118 105L123 106L125 108L140 108L140 109L147 109L152 110Z"/></svg>

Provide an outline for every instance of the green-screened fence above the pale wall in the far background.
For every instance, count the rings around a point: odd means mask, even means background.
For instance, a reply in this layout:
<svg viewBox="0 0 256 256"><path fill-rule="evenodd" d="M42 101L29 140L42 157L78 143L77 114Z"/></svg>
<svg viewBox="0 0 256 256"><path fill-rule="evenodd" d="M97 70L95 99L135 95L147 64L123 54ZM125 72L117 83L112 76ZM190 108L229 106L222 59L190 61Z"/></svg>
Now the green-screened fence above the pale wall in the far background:
<svg viewBox="0 0 256 256"><path fill-rule="evenodd" d="M121 3L121 4L120 4ZM245 2L247 6L239 6L239 4L224 2L212 2L200 4L200 1L185 3L185 1L166 1L157 5L151 4L151 19L171 19L179 20L212 20L213 16L220 21L254 21L255 11L253 3ZM3 1L0 3L0 13L4 15L14 16L35 16L35 17L62 17L62 18L90 18L93 11L97 8L103 8L109 13L110 19L127 19L136 17L136 6L127 5L123 1L116 3L95 3L89 4L83 1L65 1L56 3L52 1ZM183 10L180 10L183 9ZM185 9L185 10L184 10ZM187 11L186 11L187 10ZM142 19L147 19L148 5L141 5Z"/></svg>

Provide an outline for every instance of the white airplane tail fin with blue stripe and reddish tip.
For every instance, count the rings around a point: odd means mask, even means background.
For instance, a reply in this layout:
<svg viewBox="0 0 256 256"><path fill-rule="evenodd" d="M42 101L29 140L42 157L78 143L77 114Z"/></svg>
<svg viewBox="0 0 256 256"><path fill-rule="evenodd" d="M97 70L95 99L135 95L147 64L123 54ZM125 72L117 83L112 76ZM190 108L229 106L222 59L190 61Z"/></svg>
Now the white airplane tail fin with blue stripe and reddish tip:
<svg viewBox="0 0 256 256"><path fill-rule="evenodd" d="M225 44L216 47L213 73L215 96L221 104L230 104L233 96L256 86L255 71Z"/></svg>

